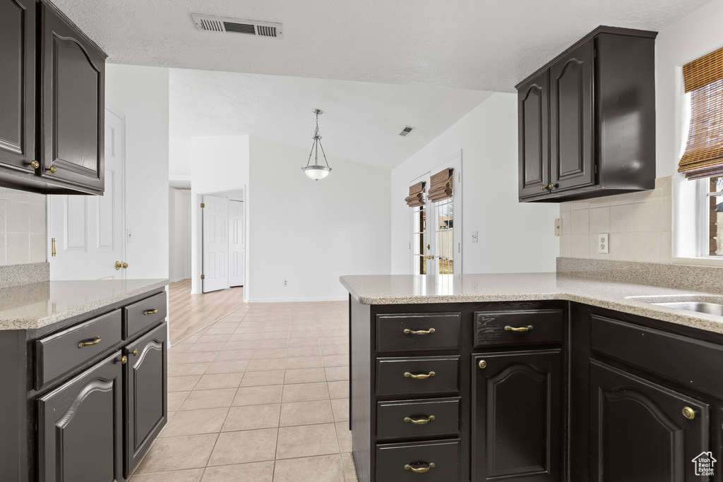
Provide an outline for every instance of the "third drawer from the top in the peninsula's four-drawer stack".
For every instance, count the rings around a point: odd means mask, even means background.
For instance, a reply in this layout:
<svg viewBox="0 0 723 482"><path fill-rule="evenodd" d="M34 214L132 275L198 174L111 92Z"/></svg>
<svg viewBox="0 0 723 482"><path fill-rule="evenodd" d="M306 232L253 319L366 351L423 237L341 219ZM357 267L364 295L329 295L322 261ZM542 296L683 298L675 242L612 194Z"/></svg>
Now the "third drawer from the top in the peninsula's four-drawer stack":
<svg viewBox="0 0 723 482"><path fill-rule="evenodd" d="M377 439L459 434L459 397L377 403Z"/></svg>

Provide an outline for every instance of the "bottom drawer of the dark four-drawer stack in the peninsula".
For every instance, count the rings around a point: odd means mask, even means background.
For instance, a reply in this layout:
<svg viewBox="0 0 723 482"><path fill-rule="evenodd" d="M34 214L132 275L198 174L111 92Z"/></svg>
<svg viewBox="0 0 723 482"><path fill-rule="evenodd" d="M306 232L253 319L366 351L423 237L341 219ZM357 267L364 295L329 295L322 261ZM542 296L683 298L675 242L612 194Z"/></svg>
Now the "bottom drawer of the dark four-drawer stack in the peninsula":
<svg viewBox="0 0 723 482"><path fill-rule="evenodd" d="M377 482L406 481L459 481L459 439L377 445Z"/></svg>

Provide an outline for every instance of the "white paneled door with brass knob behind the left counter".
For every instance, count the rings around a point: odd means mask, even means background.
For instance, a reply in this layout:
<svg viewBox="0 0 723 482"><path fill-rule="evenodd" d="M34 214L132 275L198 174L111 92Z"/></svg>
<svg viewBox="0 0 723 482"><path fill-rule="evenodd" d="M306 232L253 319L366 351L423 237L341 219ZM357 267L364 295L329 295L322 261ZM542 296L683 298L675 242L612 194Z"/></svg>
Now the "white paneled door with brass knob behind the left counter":
<svg viewBox="0 0 723 482"><path fill-rule="evenodd" d="M106 109L103 196L48 196L48 259L52 280L124 279L124 119ZM51 256L52 240L56 256ZM130 264L130 263L129 263ZM128 269L132 269L129 266Z"/></svg>

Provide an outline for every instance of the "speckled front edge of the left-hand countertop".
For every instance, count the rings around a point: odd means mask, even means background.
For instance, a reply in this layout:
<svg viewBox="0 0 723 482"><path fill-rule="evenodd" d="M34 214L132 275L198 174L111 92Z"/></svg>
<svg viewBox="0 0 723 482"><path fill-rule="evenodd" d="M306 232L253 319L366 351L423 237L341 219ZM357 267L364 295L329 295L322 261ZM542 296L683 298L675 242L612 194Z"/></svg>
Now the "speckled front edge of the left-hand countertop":
<svg viewBox="0 0 723 482"><path fill-rule="evenodd" d="M102 280L100 281L102 283ZM120 293L113 293L109 296L103 296L96 298L91 301L77 304L68 309L63 309L56 313L46 315L34 315L34 314L23 314L25 306L19 306L15 309L2 313L4 317L0 317L0 331L5 330L37 330L38 328L46 327L49 324L62 322L66 319L77 317L78 315L90 313L96 309L103 308L111 304L119 303L120 301L133 298L134 296L142 295L149 291L163 288L168 285L168 280L148 280L148 284L141 284L129 290L122 291ZM43 284L43 283L38 283ZM31 287L32 285L25 285ZM33 306L33 304L27 305ZM17 315L14 315L17 313ZM8 316L10 315L10 316Z"/></svg>

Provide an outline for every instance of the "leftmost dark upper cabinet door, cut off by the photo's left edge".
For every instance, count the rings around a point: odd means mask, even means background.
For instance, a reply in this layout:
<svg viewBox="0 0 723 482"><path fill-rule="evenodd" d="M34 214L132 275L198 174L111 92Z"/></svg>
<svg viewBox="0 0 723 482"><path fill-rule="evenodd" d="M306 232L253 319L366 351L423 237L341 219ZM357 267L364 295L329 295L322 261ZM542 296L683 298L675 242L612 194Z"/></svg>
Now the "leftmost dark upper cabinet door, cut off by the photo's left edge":
<svg viewBox="0 0 723 482"><path fill-rule="evenodd" d="M0 0L0 164L33 172L35 1Z"/></svg>

